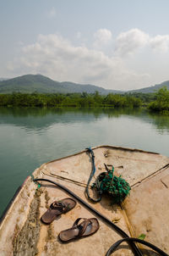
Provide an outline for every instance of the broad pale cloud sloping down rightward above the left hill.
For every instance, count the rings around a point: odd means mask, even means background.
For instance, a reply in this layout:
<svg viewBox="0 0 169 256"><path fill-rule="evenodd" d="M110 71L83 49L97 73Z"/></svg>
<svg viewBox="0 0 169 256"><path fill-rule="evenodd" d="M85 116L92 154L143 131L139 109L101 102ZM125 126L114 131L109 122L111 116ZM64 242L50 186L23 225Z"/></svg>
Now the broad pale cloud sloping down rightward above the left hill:
<svg viewBox="0 0 169 256"><path fill-rule="evenodd" d="M9 67L13 74L40 73L56 81L92 83L119 90L140 87L148 79L146 74L128 69L122 58L112 58L85 46L74 47L58 35L38 36L37 42L22 48L21 57Z"/></svg>

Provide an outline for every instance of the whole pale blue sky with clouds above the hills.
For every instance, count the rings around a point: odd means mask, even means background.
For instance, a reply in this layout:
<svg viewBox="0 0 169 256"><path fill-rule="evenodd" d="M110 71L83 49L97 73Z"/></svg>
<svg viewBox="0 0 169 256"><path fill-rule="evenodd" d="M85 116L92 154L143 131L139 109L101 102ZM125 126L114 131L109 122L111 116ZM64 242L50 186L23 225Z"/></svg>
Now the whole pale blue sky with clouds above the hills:
<svg viewBox="0 0 169 256"><path fill-rule="evenodd" d="M169 80L169 0L0 0L0 78L133 90Z"/></svg>

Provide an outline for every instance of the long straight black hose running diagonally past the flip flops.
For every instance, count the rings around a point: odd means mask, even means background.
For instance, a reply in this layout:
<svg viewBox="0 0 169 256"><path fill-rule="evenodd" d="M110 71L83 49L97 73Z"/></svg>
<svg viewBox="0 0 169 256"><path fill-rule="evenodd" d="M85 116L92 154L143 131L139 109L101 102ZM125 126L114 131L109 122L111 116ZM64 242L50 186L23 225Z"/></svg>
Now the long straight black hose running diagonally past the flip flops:
<svg viewBox="0 0 169 256"><path fill-rule="evenodd" d="M50 181L48 179L34 179L33 181L35 181L35 182L36 181L47 181L47 182L50 182L50 183L58 186L59 188L63 189L63 191L68 192L69 195L71 195L72 197L77 199L80 203L84 204L86 208L88 208L92 212L94 212L94 214L99 216L108 225L111 225L113 227L113 229L116 230L118 232L118 234L120 234L122 237L129 238L128 234L126 234L121 228L119 228L117 225L112 223L111 220L107 219L106 216L104 216L103 214L98 212L96 209L94 209L92 206L90 206L90 204L86 203L82 198L79 198L79 196L77 196L74 192L70 191L66 186L63 186L63 185L61 185L61 184L59 184L59 183L57 183L55 181ZM142 256L142 253L140 252L139 248L137 248L137 246L135 245L135 243L133 241L128 241L128 244L132 248L135 256Z"/></svg>

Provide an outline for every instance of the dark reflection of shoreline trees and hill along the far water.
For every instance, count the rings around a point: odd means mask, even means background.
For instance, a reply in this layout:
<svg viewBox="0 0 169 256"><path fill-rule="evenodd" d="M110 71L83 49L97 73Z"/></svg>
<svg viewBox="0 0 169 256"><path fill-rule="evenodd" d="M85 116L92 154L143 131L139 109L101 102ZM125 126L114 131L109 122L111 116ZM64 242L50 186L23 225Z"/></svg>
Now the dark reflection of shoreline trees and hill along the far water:
<svg viewBox="0 0 169 256"><path fill-rule="evenodd" d="M58 123L91 123L105 116L111 119L123 115L155 125L157 131L169 132L169 116L150 114L143 109L0 108L0 124L41 130Z"/></svg>

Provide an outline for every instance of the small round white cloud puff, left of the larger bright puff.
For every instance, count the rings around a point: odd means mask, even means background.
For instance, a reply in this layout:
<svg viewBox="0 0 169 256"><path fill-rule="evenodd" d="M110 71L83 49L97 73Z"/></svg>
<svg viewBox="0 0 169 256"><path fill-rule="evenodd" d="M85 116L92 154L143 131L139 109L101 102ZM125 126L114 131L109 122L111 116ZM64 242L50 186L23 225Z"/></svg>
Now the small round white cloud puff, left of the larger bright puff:
<svg viewBox="0 0 169 256"><path fill-rule="evenodd" d="M98 49L101 47L106 47L112 42L112 32L106 29L100 29L95 32L94 39L95 41L93 45L95 48Z"/></svg>

